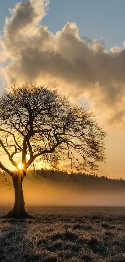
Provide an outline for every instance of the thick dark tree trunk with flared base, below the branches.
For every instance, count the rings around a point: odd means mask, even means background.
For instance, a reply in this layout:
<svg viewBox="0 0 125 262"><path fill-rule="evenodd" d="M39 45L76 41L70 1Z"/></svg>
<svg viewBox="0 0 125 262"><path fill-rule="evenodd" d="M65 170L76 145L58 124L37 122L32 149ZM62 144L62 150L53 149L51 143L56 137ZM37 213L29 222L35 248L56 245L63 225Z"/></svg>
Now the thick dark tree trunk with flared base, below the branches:
<svg viewBox="0 0 125 262"><path fill-rule="evenodd" d="M24 179L24 172L22 170L20 170L18 175L16 175L13 178L15 203L14 203L14 207L8 212L6 217L18 218L18 219L31 217L25 211L25 202L24 202L24 195L23 195L23 188L22 188L23 179Z"/></svg>

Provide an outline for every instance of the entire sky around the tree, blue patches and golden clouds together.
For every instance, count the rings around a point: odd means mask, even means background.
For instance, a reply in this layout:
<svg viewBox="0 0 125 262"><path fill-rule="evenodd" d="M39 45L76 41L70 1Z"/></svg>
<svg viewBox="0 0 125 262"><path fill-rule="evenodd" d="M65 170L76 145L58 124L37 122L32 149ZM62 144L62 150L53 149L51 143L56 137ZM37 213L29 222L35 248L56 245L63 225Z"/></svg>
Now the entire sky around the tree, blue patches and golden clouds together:
<svg viewBox="0 0 125 262"><path fill-rule="evenodd" d="M100 175L123 179L124 9L124 0L4 0L0 8L0 90L46 82L89 106L109 133Z"/></svg>

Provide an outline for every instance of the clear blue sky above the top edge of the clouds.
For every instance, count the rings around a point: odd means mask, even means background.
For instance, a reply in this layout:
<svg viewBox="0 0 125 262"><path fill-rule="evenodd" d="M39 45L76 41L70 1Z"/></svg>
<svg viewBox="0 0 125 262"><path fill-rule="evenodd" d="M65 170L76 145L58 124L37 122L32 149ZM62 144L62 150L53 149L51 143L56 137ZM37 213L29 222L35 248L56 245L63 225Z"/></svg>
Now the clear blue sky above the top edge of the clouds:
<svg viewBox="0 0 125 262"><path fill-rule="evenodd" d="M10 16L8 8L13 8L16 0L4 0L0 7L0 31L5 18ZM48 16L43 24L55 33L67 22L76 22L79 35L92 40L104 37L106 49L115 44L122 47L125 40L125 1L124 0L50 0Z"/></svg>

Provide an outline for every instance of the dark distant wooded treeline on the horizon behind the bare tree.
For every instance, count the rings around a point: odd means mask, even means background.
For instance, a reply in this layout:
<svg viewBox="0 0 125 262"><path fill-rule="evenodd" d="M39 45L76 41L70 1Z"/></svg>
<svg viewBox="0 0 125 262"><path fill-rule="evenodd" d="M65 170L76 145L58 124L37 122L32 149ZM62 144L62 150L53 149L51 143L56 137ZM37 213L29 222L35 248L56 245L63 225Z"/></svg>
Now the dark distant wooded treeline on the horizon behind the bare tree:
<svg viewBox="0 0 125 262"><path fill-rule="evenodd" d="M11 181L10 176L5 174L5 177L7 181ZM5 179L3 174L1 173L0 184L2 181L4 181L4 185L7 185L5 183ZM66 188L74 188L75 190L90 190L90 191L112 191L112 190L125 190L125 180L122 178L120 179L110 179L108 177L105 177L104 175L98 176L97 174L80 174L80 173L74 173L74 174L68 174L67 172L63 171L50 171L50 170L37 170L37 171L28 171L26 176L26 182L30 180L30 182L36 183L46 183L49 185L62 185ZM2 184L1 184L2 185Z"/></svg>

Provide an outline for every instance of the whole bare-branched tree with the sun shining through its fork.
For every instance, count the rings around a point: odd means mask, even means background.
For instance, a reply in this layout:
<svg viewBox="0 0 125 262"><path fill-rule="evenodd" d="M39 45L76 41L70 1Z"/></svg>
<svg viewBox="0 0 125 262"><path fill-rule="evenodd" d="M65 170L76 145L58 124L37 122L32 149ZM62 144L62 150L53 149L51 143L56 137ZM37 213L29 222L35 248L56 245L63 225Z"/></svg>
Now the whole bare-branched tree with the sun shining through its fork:
<svg viewBox="0 0 125 262"><path fill-rule="evenodd" d="M105 159L104 137L92 112L71 104L56 89L32 84L4 89L0 97L0 153L8 156L16 170L0 161L15 190L14 207L7 216L28 216L22 182L36 159L54 170L60 160L70 160L72 172L97 170L97 162ZM17 161L20 154L22 166Z"/></svg>

